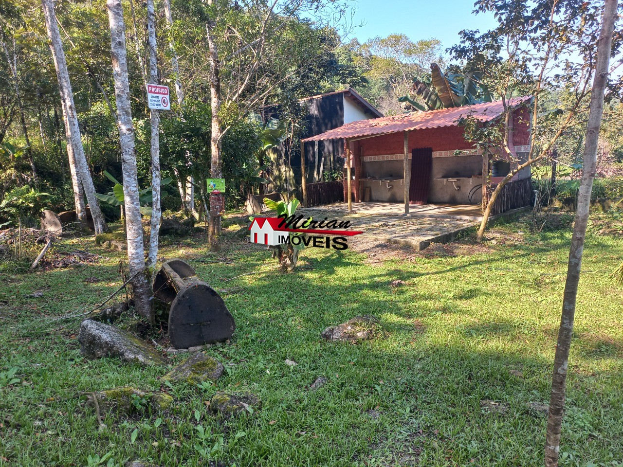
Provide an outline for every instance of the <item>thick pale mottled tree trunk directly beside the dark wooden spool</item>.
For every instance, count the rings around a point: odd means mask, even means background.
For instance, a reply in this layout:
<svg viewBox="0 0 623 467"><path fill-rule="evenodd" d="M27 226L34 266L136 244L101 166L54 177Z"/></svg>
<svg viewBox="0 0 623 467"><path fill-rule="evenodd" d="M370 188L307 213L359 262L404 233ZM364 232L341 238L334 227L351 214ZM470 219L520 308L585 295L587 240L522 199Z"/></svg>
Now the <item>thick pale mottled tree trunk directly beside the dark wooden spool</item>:
<svg viewBox="0 0 623 467"><path fill-rule="evenodd" d="M51 0L46 0L51 1ZM130 110L130 85L125 46L125 23L121 0L108 0L108 21L112 50L115 99L117 100L117 125L121 145L121 166L123 169L123 196L125 197L125 220L128 238L128 262L136 312L153 324L150 287L145 277L145 246L138 200L138 177L136 174L136 149L134 126Z"/></svg>

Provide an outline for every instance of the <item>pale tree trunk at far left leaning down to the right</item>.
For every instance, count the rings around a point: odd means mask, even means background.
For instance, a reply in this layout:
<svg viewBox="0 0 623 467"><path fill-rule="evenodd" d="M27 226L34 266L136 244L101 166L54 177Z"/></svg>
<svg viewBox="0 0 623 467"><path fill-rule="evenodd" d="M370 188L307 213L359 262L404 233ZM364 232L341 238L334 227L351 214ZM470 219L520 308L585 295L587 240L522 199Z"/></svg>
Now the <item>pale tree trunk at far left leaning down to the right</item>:
<svg viewBox="0 0 623 467"><path fill-rule="evenodd" d="M82 146L82 138L80 136L80 127L78 126L78 115L74 105L74 94L72 93L72 85L69 80L69 72L67 72L67 62L65 61L65 51L63 50L63 44L60 40L59 27L56 22L56 14L54 12L53 0L42 0L41 2L44 16L45 27L47 28L47 34L50 39L50 50L52 51L52 58L54 59L54 67L56 68L56 75L59 80L59 93L63 102L62 109L65 118L65 131L67 132L67 148L69 153L69 146L71 146L74 152L75 174L72 174L72 183L74 178L77 178L82 183L84 194L87 196L88 205L93 217L93 225L95 227L95 234L103 234L108 232L108 225L100 210L97 197L95 197L95 186L93 186L93 179L91 178L90 171L88 170L87 159L84 155L84 148ZM72 165L70 156L70 166ZM75 196L82 194L74 186ZM79 203L77 203L78 205ZM78 213L77 213L78 214Z"/></svg>

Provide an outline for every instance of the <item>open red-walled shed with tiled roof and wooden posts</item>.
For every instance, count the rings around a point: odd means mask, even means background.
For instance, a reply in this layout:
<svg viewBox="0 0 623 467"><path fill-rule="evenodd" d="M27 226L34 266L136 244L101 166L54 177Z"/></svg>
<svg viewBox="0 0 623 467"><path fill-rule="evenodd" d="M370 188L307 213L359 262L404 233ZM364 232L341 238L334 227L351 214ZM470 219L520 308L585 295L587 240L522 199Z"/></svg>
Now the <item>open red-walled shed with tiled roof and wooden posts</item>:
<svg viewBox="0 0 623 467"><path fill-rule="evenodd" d="M515 162L524 161L530 150L530 101L522 97L506 103L511 109L509 145ZM503 102L495 101L354 121L302 139L302 148L311 141L345 141L344 199L349 210L353 200L404 203L405 214L409 205L477 205L486 202L513 161L495 148L483 154L465 139L459 120L472 116L486 123L503 114ZM493 214L530 204L530 167L515 174L504 191Z"/></svg>

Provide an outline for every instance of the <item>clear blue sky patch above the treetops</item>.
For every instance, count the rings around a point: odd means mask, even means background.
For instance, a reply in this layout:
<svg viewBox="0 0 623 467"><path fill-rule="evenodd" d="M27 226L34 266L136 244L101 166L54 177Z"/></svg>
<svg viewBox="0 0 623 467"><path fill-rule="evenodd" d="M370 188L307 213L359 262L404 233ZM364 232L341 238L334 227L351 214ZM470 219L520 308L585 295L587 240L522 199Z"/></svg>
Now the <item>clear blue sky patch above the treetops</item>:
<svg viewBox="0 0 623 467"><path fill-rule="evenodd" d="M493 15L472 14L473 0L353 0L353 22L357 27L351 37L363 43L371 37L406 34L412 40L435 37L447 49L459 42L463 29L487 29L495 26Z"/></svg>

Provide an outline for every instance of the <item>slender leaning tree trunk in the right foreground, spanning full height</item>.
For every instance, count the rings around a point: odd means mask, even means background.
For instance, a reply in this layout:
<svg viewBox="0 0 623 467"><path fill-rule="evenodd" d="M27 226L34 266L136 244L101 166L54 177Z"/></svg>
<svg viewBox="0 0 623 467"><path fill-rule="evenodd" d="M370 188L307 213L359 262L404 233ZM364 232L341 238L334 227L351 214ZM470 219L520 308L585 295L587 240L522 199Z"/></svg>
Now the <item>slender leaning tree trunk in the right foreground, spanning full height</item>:
<svg viewBox="0 0 623 467"><path fill-rule="evenodd" d="M564 397L566 392L567 372L569 369L569 349L573 320L576 311L576 296L582 267L582 253L584 237L588 223L589 207L591 205L592 182L595 177L597 162L597 142L599 140L599 126L604 110L604 90L608 76L610 62L612 32L617 16L617 0L606 0L602 17L601 32L597 41L597 64L592 83L591 104L589 106L588 125L586 130L586 144L584 146L584 164L580 182L578 208L573 225L573 237L569 249L569 265L567 279L564 284L563 312L558 331L556 355L554 356L554 371L549 399L549 415L545 441L546 467L558 466L558 450L560 446L560 432L563 423Z"/></svg>

